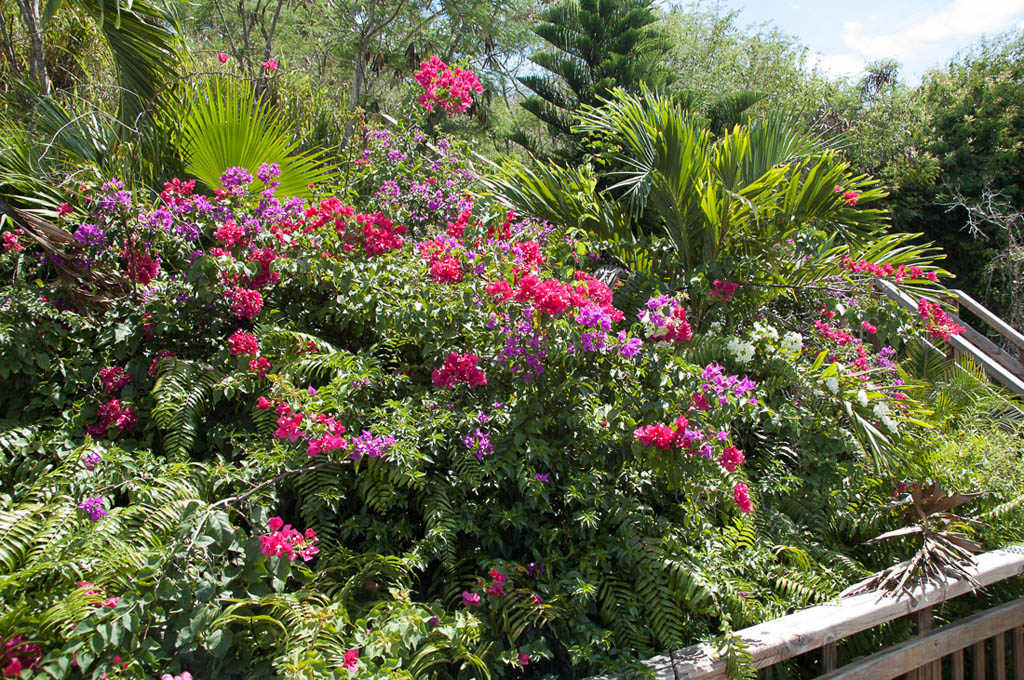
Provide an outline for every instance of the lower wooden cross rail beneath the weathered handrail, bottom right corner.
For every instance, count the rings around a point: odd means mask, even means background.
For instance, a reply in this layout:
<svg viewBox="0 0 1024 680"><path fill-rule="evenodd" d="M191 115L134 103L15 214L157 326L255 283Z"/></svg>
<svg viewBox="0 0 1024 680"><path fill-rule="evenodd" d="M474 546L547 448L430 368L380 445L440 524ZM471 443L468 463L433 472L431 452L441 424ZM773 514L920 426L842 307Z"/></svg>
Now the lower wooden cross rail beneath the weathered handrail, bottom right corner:
<svg viewBox="0 0 1024 680"><path fill-rule="evenodd" d="M844 666L821 676L820 680L874 680L892 678L907 669L919 668L938 661L965 644L983 641L996 636L996 646L1004 633L1024 621L1024 597L986 611L968 617L962 621L940 628L921 637L913 637L877 654ZM993 658L999 668L998 656ZM1005 658L1002 660L1005 661ZM997 671L996 671L997 673ZM995 676L996 680L1006 680Z"/></svg>

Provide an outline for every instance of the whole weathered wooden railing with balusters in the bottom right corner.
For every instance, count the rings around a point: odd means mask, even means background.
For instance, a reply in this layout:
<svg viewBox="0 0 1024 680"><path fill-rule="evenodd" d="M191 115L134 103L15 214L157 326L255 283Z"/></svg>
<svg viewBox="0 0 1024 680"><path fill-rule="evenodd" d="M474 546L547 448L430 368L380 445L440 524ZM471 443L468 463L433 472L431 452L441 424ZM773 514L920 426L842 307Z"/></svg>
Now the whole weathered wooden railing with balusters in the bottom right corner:
<svg viewBox="0 0 1024 680"><path fill-rule="evenodd" d="M968 571L981 587L1024 575L1024 547L995 550L976 557ZM863 593L797 611L738 631L754 666L768 668L820 650L822 679L881 680L907 675L916 680L1007 680L1008 651L1013 680L1024 680L1024 597L939 629L932 629L932 607L973 592L966 580L919 585L910 594ZM836 668L843 638L911 617L916 634L901 644ZM1010 637L1008 643L1007 637ZM726 658L711 644L699 644L644 662L657 680L726 680ZM947 669L943 671L943 667ZM966 670L972 673L965 676ZM632 680L640 675L592 680Z"/></svg>

